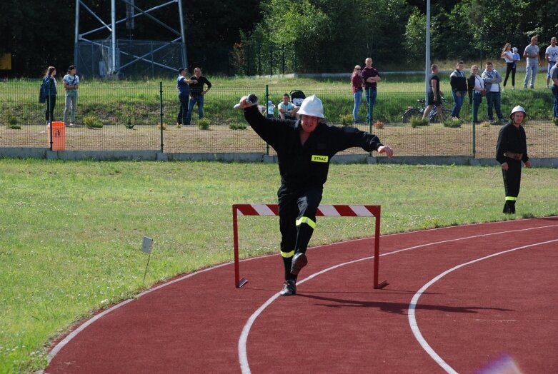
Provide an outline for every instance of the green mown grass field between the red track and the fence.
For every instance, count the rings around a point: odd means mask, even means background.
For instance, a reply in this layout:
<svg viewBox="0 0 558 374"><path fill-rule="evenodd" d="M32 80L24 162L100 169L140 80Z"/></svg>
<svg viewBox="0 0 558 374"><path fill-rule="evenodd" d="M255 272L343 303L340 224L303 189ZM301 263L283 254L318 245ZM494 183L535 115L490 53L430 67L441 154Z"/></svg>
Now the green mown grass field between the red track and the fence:
<svg viewBox="0 0 558 374"><path fill-rule="evenodd" d="M514 218L558 215L557 180L525 170ZM0 373L44 367L49 341L94 310L231 261L231 204L275 203L278 186L274 164L0 159ZM495 167L332 165L322 203L382 205L382 233L394 233L508 219L503 190ZM372 227L319 218L311 245ZM241 256L276 253L276 218L239 228ZM154 238L145 283L143 236Z"/></svg>

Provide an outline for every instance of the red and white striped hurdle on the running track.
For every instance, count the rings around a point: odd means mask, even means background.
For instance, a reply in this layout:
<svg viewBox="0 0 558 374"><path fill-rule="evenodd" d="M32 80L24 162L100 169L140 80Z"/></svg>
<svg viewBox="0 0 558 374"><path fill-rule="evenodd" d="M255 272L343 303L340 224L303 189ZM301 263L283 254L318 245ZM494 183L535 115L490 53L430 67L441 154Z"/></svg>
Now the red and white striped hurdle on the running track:
<svg viewBox="0 0 558 374"><path fill-rule="evenodd" d="M387 281L378 282L379 272L379 241L380 241L380 216L381 206L377 205L321 205L318 206L318 217L374 217L374 288L384 288ZM239 270L239 236L238 216L278 216L277 204L233 204L232 228L234 238L234 285L242 287L248 282L246 278L240 279Z"/></svg>

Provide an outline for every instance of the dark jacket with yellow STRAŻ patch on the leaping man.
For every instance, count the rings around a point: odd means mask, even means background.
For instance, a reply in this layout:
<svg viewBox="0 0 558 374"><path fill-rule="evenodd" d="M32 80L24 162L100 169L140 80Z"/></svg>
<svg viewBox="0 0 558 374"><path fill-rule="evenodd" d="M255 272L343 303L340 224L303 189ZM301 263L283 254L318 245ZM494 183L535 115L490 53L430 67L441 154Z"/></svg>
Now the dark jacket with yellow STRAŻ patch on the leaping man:
<svg viewBox="0 0 558 374"><path fill-rule="evenodd" d="M322 188L327 181L329 162L339 151L361 147L377 151L380 140L372 133L352 127L329 126L319 122L308 140L300 143L300 121L265 118L256 106L244 109L244 117L256 133L269 143L279 158L281 183L287 190Z"/></svg>

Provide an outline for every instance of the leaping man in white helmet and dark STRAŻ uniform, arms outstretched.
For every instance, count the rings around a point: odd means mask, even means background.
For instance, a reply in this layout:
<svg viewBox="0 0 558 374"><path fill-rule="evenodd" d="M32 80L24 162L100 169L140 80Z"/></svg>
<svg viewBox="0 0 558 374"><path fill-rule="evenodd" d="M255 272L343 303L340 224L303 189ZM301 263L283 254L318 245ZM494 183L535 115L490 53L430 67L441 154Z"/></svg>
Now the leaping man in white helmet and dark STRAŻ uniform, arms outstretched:
<svg viewBox="0 0 558 374"><path fill-rule="evenodd" d="M251 128L277 152L281 174L277 192L279 229L285 274L281 295L294 295L297 276L308 262L305 253L316 227L316 211L332 156L351 147L386 153L389 158L393 151L372 133L321 122L324 108L315 95L304 99L297 121L265 118L255 103L246 101L246 96L240 99L239 107L244 108Z"/></svg>

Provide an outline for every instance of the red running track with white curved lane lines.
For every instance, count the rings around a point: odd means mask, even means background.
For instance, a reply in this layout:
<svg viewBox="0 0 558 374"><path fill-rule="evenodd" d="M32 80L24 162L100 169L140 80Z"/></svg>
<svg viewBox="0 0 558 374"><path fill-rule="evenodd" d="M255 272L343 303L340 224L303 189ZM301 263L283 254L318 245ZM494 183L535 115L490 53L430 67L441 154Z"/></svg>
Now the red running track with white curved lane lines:
<svg viewBox="0 0 558 374"><path fill-rule="evenodd" d="M312 248L182 276L77 325L45 373L558 373L558 218Z"/></svg>

